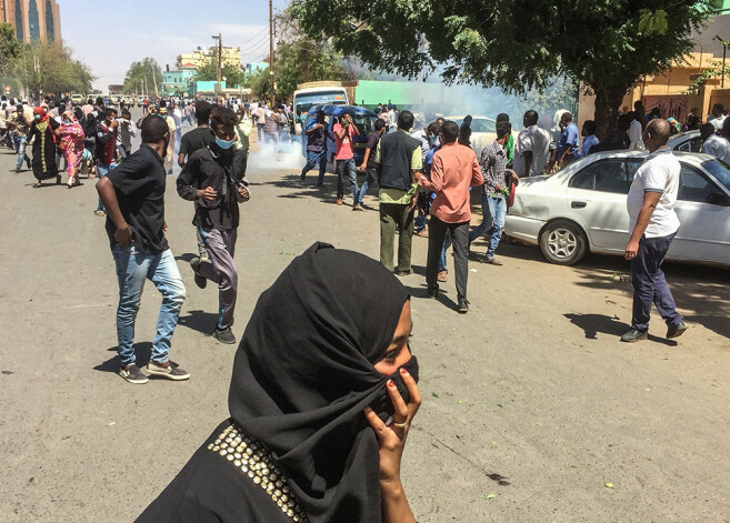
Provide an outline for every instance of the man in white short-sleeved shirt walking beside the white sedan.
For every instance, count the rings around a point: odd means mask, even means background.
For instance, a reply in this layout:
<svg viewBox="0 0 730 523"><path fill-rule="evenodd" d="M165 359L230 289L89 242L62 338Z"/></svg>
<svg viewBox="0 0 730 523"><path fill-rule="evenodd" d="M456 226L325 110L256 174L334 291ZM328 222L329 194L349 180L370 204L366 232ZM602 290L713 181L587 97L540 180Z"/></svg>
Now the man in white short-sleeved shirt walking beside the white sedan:
<svg viewBox="0 0 730 523"><path fill-rule="evenodd" d="M680 336L687 330L661 270L679 229L674 203L681 168L667 147L670 134L667 120L657 118L649 122L643 142L651 154L637 170L627 197L631 237L626 247L626 259L631 261L633 314L631 329L621 336L626 342L647 339L652 302L667 322L668 339Z"/></svg>

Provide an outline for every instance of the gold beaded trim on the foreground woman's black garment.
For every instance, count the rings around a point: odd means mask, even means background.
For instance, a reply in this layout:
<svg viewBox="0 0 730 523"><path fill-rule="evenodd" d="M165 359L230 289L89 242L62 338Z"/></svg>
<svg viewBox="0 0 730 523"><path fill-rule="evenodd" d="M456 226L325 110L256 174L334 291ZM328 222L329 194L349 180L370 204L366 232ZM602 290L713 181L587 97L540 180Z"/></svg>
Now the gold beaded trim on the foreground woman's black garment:
<svg viewBox="0 0 730 523"><path fill-rule="evenodd" d="M304 511L291 492L287 480L273 462L271 451L262 443L231 424L208 450L224 457L232 466L248 475L254 484L266 491L273 502L297 523L309 523Z"/></svg>

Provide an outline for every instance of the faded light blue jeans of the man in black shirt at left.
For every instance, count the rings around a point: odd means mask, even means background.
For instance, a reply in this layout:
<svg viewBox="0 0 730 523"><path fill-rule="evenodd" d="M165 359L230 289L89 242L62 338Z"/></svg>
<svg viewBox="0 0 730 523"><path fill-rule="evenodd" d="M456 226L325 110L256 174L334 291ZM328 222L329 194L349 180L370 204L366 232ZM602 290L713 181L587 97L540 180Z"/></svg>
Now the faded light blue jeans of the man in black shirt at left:
<svg viewBox="0 0 730 523"><path fill-rule="evenodd" d="M144 254L138 252L133 244L128 248L114 245L112 255L119 280L117 339L121 365L128 366L136 362L134 319L139 311L146 280L154 283L162 294L151 360L164 363L168 361L170 339L178 324L180 309L186 299L186 288L174 257L169 249L161 254Z"/></svg>

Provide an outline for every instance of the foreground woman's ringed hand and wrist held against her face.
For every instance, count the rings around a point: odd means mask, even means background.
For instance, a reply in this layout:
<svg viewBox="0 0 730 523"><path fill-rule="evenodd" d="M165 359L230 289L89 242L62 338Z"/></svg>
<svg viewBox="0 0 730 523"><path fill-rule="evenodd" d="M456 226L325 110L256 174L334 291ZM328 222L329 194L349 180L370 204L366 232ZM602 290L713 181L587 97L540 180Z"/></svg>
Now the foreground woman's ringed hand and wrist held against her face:
<svg viewBox="0 0 730 523"><path fill-rule="evenodd" d="M381 486L388 484L400 486L400 462L403 456L406 439L408 437L411 421L421 406L421 393L418 390L416 380L413 380L413 376L406 369L401 369L400 372L406 389L408 389L410 402L406 404L393 381L389 380L386 389L394 408L393 422L390 425L386 425L372 409L369 406L366 408L366 416L376 431L380 446Z"/></svg>

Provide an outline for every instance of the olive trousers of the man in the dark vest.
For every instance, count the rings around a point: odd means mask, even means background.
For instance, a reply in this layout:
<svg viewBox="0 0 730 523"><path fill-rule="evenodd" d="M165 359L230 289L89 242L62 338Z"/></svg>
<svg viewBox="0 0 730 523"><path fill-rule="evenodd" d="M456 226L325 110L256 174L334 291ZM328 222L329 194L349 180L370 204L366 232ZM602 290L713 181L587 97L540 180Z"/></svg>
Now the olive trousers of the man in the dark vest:
<svg viewBox="0 0 730 523"><path fill-rule="evenodd" d="M380 202L380 263L393 270L393 245L398 231L398 270L411 271L411 243L413 242L413 211L410 205Z"/></svg>

